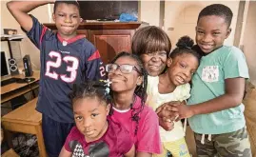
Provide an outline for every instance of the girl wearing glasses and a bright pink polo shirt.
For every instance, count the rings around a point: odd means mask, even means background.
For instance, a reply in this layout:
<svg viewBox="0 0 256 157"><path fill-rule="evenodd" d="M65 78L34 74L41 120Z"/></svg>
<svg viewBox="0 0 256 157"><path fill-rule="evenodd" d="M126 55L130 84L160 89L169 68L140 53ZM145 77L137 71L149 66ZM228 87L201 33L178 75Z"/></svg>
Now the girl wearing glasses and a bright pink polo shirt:
<svg viewBox="0 0 256 157"><path fill-rule="evenodd" d="M119 53L106 66L112 96L110 119L129 130L136 157L150 157L161 152L159 122L156 113L145 105L147 71L134 54Z"/></svg>

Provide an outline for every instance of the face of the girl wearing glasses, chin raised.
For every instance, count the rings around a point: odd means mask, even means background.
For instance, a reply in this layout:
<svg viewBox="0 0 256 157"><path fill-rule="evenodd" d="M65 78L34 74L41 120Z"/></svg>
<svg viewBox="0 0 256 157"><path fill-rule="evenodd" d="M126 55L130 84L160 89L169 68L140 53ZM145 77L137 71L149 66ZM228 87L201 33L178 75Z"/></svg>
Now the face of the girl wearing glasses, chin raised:
<svg viewBox="0 0 256 157"><path fill-rule="evenodd" d="M114 64L119 66L135 66L136 69L139 71L141 70L136 60L128 56L118 58ZM138 71L135 70L135 68L133 68L129 73L122 72L120 68L108 72L108 79L112 82L110 88L114 92L124 92L129 90L133 90L132 92L134 92L135 88L142 84L142 76Z"/></svg>

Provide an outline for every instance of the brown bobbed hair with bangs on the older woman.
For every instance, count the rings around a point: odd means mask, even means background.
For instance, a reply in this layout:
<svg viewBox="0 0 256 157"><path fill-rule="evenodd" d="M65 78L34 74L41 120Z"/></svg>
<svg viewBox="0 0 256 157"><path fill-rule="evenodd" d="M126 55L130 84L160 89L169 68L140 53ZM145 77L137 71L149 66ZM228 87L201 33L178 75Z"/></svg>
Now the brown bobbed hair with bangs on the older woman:
<svg viewBox="0 0 256 157"><path fill-rule="evenodd" d="M132 37L131 51L139 56L159 50L165 50L168 56L170 49L167 33L159 27L148 26L138 29Z"/></svg>

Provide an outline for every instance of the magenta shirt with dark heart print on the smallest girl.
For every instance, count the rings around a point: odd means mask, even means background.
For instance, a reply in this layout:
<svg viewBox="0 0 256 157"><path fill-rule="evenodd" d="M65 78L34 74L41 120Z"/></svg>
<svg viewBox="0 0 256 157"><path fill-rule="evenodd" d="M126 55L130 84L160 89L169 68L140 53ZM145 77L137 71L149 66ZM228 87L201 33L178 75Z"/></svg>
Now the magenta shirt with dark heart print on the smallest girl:
<svg viewBox="0 0 256 157"><path fill-rule="evenodd" d="M128 130L119 124L108 120L108 130L99 139L87 143L85 136L73 127L65 142L65 149L72 152L72 156L108 156L122 157L133 146Z"/></svg>

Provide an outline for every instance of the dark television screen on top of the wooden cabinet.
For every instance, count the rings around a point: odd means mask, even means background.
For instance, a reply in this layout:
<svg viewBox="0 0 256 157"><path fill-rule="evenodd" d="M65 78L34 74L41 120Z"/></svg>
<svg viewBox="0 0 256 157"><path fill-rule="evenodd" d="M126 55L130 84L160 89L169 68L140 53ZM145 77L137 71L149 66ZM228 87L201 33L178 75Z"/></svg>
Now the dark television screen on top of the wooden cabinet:
<svg viewBox="0 0 256 157"><path fill-rule="evenodd" d="M84 20L118 19L121 13L138 16L138 1L78 1Z"/></svg>

